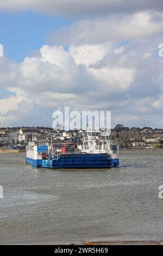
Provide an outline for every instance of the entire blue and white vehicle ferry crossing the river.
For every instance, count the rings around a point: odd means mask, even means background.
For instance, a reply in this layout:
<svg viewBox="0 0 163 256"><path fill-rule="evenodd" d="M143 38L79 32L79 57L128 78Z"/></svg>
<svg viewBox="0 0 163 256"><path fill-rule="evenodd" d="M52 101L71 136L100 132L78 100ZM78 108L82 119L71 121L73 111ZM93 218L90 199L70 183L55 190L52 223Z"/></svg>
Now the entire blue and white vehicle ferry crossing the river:
<svg viewBox="0 0 163 256"><path fill-rule="evenodd" d="M87 130L82 144L62 143L61 149L46 141L29 142L26 163L35 168L112 168L119 166L118 145L112 149L109 131Z"/></svg>

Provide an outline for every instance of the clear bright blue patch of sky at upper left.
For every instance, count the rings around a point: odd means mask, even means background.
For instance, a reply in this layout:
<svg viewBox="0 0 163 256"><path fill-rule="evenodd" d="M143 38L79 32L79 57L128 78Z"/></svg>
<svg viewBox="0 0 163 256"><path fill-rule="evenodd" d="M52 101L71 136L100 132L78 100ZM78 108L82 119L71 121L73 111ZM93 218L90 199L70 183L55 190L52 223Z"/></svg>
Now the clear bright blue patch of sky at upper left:
<svg viewBox="0 0 163 256"><path fill-rule="evenodd" d="M59 17L23 11L22 13L0 14L0 43L4 46L4 56L21 62L31 52L48 44L47 35L60 26L72 21Z"/></svg>

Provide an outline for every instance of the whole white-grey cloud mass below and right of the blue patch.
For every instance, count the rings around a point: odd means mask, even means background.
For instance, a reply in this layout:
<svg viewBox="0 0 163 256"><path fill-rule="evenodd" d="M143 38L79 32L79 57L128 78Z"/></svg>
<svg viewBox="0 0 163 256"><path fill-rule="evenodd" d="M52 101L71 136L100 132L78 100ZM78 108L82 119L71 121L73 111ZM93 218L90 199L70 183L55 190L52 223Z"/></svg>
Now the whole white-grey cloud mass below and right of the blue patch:
<svg viewBox="0 0 163 256"><path fill-rule="evenodd" d="M110 110L113 124L155 126L163 114L162 58L155 54L162 24L162 14L149 12L78 21L67 51L44 45L21 63L0 58L0 96L4 88L14 93L0 100L0 126L52 125L53 111L66 105Z"/></svg>

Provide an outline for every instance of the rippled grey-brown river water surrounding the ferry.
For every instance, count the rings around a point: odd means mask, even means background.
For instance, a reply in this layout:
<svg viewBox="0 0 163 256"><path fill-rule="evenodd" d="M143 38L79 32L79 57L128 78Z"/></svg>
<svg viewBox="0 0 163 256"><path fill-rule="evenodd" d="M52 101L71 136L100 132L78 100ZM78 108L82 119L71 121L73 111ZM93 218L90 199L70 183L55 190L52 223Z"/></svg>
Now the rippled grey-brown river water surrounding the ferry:
<svg viewBox="0 0 163 256"><path fill-rule="evenodd" d="M121 151L120 168L33 169L0 154L1 244L163 240L163 150Z"/></svg>

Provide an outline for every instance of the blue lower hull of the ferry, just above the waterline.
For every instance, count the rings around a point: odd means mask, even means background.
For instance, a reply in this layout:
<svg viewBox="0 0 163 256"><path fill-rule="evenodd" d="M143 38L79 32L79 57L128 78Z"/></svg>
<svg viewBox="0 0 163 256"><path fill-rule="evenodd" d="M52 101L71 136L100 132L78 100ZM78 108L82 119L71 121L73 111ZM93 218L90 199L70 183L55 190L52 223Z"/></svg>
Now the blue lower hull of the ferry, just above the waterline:
<svg viewBox="0 0 163 256"><path fill-rule="evenodd" d="M58 159L34 160L29 157L26 162L33 167L55 169L112 168L119 166L119 159L108 158L106 154L70 154L61 155Z"/></svg>

